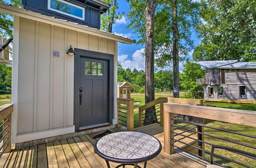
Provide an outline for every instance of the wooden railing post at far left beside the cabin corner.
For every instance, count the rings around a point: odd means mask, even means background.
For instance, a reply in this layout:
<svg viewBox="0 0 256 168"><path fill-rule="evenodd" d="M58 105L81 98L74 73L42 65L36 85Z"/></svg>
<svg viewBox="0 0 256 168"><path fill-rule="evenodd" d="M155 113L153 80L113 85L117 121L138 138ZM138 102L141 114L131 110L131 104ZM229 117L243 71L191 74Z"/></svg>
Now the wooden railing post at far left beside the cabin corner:
<svg viewBox="0 0 256 168"><path fill-rule="evenodd" d="M8 146L7 146L7 148L6 148L6 150L5 150L4 153L11 152L11 149L12 149L12 147L11 147L11 119L12 119L12 114L10 114L9 116L7 116L7 117L4 119L4 122L5 122L6 120L8 120L8 121L5 123L5 125L3 126L3 129L5 129L5 128L7 127L6 130L3 132L3 135L4 135L6 132L8 132L8 133L7 133L7 136L3 139L3 142L5 142L5 141L7 140L6 144L8 144Z"/></svg>

